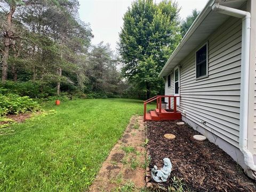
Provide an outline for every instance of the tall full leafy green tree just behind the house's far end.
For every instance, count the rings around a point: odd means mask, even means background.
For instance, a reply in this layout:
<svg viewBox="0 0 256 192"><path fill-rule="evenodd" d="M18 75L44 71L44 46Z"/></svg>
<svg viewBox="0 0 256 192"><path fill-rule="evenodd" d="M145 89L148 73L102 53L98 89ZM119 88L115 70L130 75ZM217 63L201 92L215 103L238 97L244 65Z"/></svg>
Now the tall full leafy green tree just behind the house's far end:
<svg viewBox="0 0 256 192"><path fill-rule="evenodd" d="M118 43L122 74L147 98L163 89L158 73L180 42L178 13L172 1L138 0L124 14Z"/></svg>

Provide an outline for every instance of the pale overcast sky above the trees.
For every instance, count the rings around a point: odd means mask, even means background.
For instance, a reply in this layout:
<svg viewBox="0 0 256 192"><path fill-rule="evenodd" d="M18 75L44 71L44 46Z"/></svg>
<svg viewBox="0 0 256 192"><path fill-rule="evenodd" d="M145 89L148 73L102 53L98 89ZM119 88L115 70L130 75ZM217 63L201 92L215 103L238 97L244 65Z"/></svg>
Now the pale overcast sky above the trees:
<svg viewBox="0 0 256 192"><path fill-rule="evenodd" d="M160 2L161 0L155 0ZM94 38L92 44L101 41L116 48L118 33L123 25L123 15L133 0L79 0L82 21L91 24ZM202 10L207 0L178 0L180 17L185 19L193 9Z"/></svg>

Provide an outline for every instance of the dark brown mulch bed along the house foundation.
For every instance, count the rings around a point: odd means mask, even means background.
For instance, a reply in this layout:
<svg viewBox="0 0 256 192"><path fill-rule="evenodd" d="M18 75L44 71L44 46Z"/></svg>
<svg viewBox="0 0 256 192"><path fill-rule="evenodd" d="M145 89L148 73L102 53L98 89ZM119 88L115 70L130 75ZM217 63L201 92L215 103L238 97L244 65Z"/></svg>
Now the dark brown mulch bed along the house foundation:
<svg viewBox="0 0 256 192"><path fill-rule="evenodd" d="M149 167L163 167L163 158L171 159L171 177L183 178L190 191L256 191L255 182L222 149L209 140L197 141L200 134L188 124L175 121L147 122ZM164 134L176 135L174 140ZM166 185L171 183L171 179Z"/></svg>

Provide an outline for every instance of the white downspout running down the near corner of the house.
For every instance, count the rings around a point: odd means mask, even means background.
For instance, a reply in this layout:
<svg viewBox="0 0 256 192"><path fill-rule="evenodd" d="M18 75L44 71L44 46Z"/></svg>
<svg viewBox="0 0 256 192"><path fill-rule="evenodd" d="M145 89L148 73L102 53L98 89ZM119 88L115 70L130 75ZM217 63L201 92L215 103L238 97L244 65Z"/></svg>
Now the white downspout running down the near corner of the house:
<svg viewBox="0 0 256 192"><path fill-rule="evenodd" d="M244 154L245 165L248 166L255 174L256 165L254 164L253 161L253 155L247 148L251 13L222 6L219 5L219 3L213 4L212 10L233 17L242 18L243 20L239 149Z"/></svg>

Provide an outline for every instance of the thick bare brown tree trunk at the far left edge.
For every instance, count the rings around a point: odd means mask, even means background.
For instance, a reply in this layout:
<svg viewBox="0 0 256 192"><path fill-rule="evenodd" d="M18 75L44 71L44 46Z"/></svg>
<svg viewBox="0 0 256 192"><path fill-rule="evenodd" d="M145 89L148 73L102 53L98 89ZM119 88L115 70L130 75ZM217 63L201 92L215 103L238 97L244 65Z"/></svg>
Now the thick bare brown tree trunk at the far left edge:
<svg viewBox="0 0 256 192"><path fill-rule="evenodd" d="M11 38L13 37L12 31L12 15L15 12L15 6L10 5L10 11L6 17L6 27L4 29L4 52L3 52L3 65L2 65L2 82L7 79L8 70L8 59L9 59L9 49L11 45Z"/></svg>

